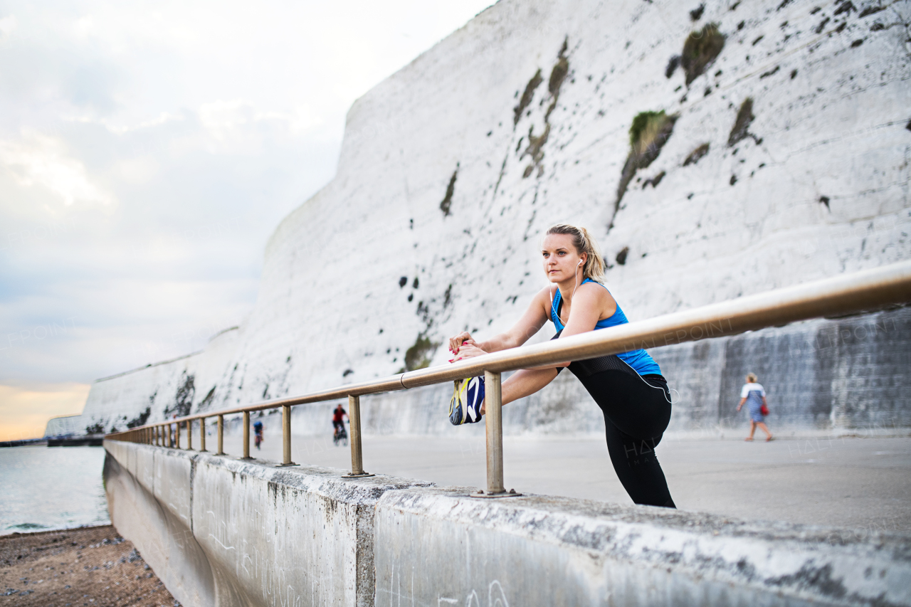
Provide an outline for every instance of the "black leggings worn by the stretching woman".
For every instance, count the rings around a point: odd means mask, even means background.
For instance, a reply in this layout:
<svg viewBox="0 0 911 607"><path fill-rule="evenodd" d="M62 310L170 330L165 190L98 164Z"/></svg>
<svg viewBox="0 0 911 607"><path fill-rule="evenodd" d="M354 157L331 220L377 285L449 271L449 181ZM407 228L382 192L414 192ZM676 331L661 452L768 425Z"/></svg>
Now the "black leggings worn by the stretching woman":
<svg viewBox="0 0 911 607"><path fill-rule="evenodd" d="M664 377L639 376L616 355L576 361L568 368L604 413L608 453L623 489L637 504L676 508L655 455L670 422Z"/></svg>

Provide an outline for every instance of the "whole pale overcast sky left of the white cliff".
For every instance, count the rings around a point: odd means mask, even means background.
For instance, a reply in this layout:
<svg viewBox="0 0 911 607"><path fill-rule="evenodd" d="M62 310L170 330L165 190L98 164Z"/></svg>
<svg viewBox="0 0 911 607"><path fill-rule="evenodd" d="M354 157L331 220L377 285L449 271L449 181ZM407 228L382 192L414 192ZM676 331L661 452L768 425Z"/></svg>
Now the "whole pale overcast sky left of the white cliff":
<svg viewBox="0 0 911 607"><path fill-rule="evenodd" d="M0 1L0 440L239 324L353 100L489 4Z"/></svg>

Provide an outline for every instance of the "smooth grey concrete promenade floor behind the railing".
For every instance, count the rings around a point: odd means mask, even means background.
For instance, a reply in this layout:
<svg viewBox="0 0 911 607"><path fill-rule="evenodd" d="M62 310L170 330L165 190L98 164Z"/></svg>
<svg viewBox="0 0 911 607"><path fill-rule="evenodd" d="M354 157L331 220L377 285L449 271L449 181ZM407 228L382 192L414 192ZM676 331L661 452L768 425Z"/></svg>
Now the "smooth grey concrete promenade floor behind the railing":
<svg viewBox="0 0 911 607"><path fill-rule="evenodd" d="M267 419L267 428L277 429L278 421ZM213 438L207 442L210 449ZM507 488L632 503L598 438L506 437L504 443ZM267 433L261 451L251 449L254 457L281 461L281 436ZM225 450L240 455L241 437L226 435ZM480 437L363 439L368 471L440 486L483 487L484 457ZM743 520L911 532L911 438L665 440L658 458L680 509ZM330 468L351 465L349 449L334 447L330 433L292 437L292 459Z"/></svg>

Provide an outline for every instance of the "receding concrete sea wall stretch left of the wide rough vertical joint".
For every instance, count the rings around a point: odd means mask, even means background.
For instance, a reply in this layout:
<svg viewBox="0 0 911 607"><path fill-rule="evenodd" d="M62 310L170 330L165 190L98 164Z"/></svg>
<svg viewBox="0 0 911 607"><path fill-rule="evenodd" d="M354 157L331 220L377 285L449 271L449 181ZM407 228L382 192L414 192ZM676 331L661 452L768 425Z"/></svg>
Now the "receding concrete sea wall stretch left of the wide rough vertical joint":
<svg viewBox="0 0 911 607"><path fill-rule="evenodd" d="M374 505L429 483L105 441L111 520L188 607L374 604Z"/></svg>

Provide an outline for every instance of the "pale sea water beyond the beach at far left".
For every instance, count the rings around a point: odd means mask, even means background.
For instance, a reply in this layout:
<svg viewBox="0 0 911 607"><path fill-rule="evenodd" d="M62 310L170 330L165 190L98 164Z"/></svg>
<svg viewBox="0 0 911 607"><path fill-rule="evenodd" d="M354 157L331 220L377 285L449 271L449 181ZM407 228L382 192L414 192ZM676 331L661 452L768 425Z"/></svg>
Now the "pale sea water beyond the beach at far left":
<svg viewBox="0 0 911 607"><path fill-rule="evenodd" d="M0 448L0 535L104 525L101 447Z"/></svg>

